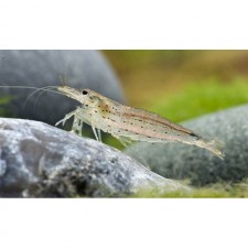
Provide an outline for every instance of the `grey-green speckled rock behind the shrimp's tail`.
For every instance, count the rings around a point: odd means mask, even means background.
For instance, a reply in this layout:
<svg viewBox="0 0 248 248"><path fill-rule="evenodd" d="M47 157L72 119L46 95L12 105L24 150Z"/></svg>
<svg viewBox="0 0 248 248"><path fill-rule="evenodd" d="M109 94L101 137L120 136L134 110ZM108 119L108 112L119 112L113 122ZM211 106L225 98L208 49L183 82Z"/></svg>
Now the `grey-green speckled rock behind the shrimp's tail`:
<svg viewBox="0 0 248 248"><path fill-rule="evenodd" d="M130 157L169 179L190 179L192 185L239 182L248 176L248 105L218 111L182 123L205 138L225 142L225 160L182 143L137 143L126 150Z"/></svg>

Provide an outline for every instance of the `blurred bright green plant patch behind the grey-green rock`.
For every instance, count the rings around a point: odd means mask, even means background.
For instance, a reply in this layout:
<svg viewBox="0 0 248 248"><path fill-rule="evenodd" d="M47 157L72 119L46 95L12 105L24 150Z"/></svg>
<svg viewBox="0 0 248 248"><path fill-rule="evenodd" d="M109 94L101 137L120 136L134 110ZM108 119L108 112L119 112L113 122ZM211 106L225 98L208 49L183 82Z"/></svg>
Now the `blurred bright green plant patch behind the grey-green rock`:
<svg viewBox="0 0 248 248"><path fill-rule="evenodd" d="M177 122L246 103L247 80L237 78L224 84L209 79L186 84L175 94L154 99L148 109Z"/></svg>

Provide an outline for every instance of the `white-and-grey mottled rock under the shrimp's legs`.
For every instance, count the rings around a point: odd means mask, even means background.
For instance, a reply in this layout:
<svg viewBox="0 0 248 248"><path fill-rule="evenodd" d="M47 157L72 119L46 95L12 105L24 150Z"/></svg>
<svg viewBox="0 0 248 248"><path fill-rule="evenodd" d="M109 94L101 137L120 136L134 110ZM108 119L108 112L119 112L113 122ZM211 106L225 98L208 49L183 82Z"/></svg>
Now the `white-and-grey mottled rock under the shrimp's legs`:
<svg viewBox="0 0 248 248"><path fill-rule="evenodd" d="M125 196L187 190L120 151L46 123L0 118L0 196Z"/></svg>

